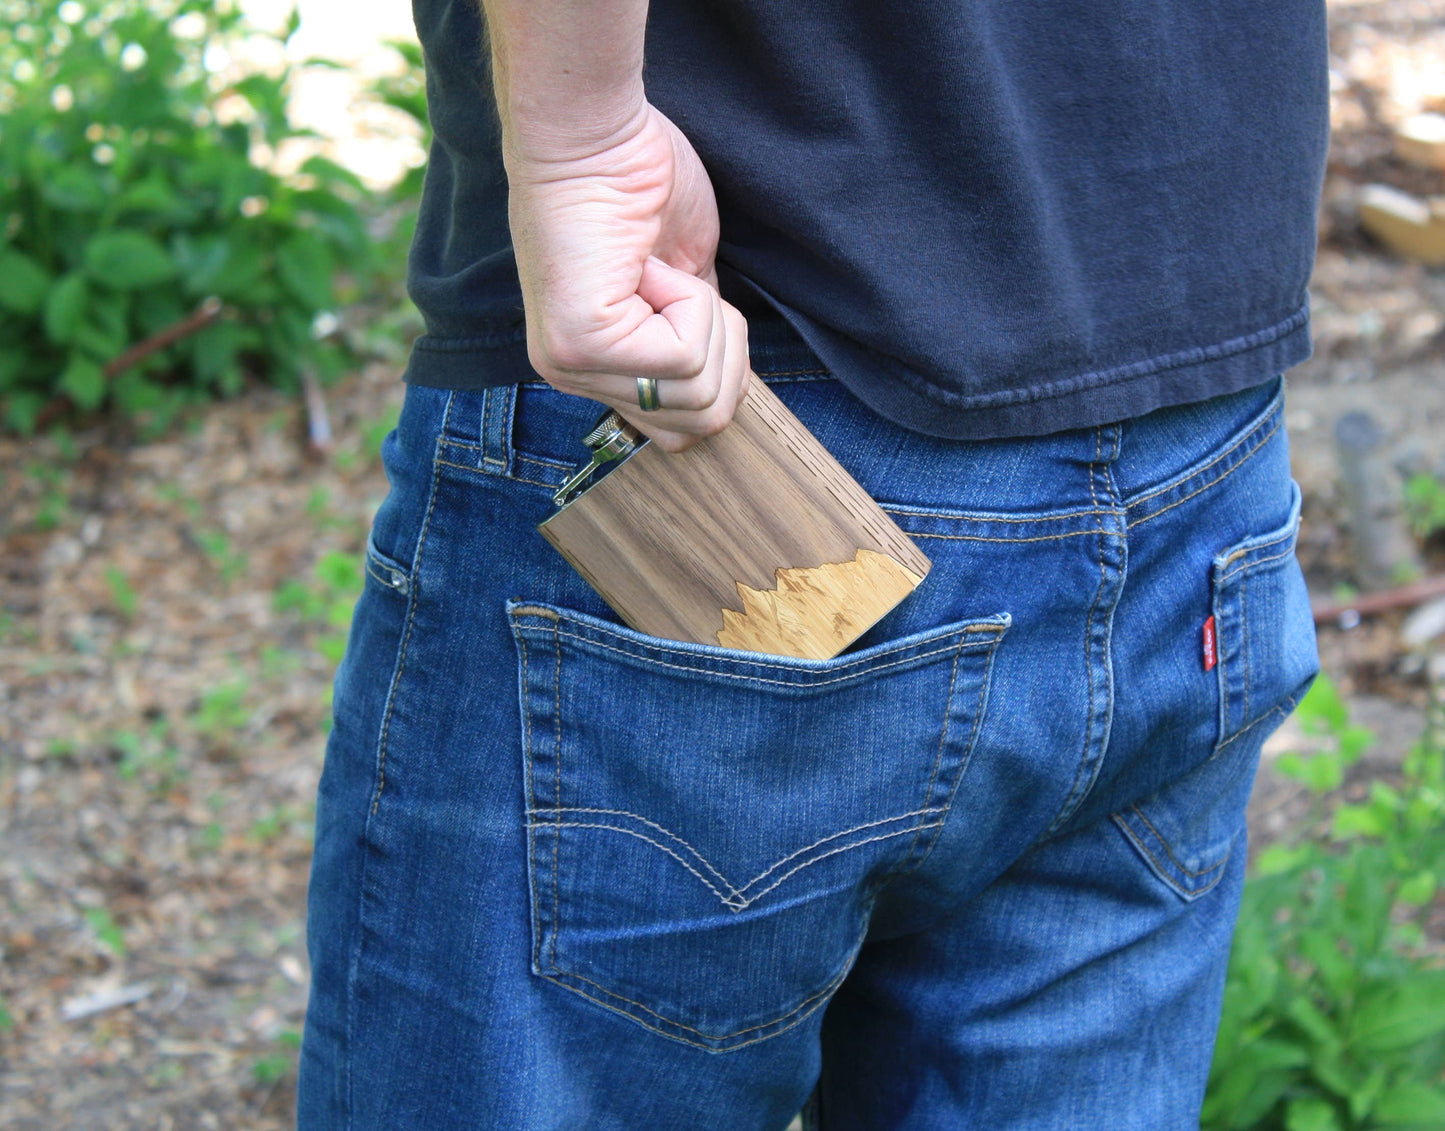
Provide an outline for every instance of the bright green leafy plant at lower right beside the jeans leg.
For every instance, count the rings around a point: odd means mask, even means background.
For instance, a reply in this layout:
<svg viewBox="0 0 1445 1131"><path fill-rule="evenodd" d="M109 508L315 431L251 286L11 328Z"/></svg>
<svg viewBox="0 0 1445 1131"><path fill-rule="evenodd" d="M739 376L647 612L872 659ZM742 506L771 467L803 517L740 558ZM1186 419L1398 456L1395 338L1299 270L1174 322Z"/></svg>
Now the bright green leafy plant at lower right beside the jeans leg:
<svg viewBox="0 0 1445 1131"><path fill-rule="evenodd" d="M1316 799L1371 741L1321 677L1300 703L1309 755L1280 770ZM1334 812L1328 835L1263 852L1244 890L1204 1127L1445 1127L1445 969L1425 917L1445 864L1439 708L1402 787Z"/></svg>

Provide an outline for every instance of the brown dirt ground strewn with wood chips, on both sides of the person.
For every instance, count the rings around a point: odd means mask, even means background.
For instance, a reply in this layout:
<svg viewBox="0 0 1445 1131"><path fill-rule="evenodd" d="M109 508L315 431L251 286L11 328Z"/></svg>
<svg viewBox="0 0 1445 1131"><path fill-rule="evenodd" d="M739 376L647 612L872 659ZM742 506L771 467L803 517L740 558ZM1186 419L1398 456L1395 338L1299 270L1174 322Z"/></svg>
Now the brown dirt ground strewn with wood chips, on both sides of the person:
<svg viewBox="0 0 1445 1131"><path fill-rule="evenodd" d="M1445 272L1354 218L1371 181L1445 194L1389 136L1445 111L1445 6L1331 13L1316 355L1289 394L1321 598L1354 581L1342 413L1370 410L1397 465L1445 475ZM308 455L299 400L260 387L153 442L104 420L0 439L0 1127L289 1127L312 797L396 374L392 355L328 390L329 458ZM1445 568L1438 547L1426 565ZM1402 644L1403 615L1321 630L1379 737L1345 790L1393 773L1445 666L1441 638ZM1270 751L1296 741L1286 727ZM1305 812L1266 767L1256 844Z"/></svg>

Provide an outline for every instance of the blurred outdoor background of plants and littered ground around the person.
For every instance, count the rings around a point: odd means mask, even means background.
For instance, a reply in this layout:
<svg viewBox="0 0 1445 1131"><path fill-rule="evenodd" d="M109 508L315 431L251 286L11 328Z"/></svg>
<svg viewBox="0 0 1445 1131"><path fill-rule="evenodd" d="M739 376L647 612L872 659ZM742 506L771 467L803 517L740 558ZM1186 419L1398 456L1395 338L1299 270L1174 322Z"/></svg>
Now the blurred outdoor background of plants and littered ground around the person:
<svg viewBox="0 0 1445 1131"><path fill-rule="evenodd" d="M1445 0L1331 0L1325 675L1208 1128L1445 1128ZM407 7L0 0L0 1127L285 1128L329 688L419 331ZM725 1125L725 1118L720 1121Z"/></svg>

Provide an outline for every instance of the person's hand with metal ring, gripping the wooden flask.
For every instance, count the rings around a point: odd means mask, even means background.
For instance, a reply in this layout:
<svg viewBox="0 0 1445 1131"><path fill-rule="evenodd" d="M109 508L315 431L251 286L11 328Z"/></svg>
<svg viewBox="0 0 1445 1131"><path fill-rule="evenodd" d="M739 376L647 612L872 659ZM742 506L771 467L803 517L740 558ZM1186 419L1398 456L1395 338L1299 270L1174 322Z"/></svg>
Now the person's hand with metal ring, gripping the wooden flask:
<svg viewBox="0 0 1445 1131"><path fill-rule="evenodd" d="M727 428L747 322L718 295L717 201L686 137L643 103L600 142L512 134L506 155L533 368L668 452ZM657 410L640 410L637 377L657 378Z"/></svg>

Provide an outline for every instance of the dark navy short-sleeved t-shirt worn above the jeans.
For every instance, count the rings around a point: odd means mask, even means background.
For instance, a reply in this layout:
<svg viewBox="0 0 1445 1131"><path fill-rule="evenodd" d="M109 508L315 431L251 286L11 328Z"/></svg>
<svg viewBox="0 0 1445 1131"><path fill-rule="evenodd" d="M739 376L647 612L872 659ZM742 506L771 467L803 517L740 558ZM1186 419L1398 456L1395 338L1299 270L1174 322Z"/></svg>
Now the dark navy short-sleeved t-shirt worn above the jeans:
<svg viewBox="0 0 1445 1131"><path fill-rule="evenodd" d="M413 0L406 380L457 389L535 377L478 9ZM1309 354L1322 0L653 0L646 58L724 293L906 428L1042 435Z"/></svg>

